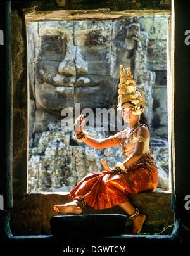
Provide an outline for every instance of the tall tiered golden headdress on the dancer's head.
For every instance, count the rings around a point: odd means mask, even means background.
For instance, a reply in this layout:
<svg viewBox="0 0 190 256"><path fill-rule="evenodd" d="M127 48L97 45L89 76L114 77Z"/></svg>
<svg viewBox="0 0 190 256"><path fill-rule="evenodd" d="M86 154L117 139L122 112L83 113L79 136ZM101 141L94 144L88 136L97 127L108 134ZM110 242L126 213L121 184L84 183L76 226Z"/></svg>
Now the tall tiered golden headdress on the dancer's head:
<svg viewBox="0 0 190 256"><path fill-rule="evenodd" d="M125 70L123 65L120 65L120 84L118 85L118 110L122 108L122 103L127 103L131 101L135 105L135 110L132 112L134 115L141 114L139 110L141 105L146 108L144 103L144 92L137 88L136 82L132 80L132 74L130 68L127 69L127 74L125 75Z"/></svg>

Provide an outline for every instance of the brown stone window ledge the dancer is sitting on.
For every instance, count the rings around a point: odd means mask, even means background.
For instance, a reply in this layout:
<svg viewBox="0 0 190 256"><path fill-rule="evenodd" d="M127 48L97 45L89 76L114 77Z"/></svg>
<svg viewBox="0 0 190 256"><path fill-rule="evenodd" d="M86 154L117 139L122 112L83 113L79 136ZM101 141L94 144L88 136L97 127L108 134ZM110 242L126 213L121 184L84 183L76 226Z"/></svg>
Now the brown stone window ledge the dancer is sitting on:
<svg viewBox="0 0 190 256"><path fill-rule="evenodd" d="M53 210L55 204L70 202L69 193L28 193L13 200L10 226L13 236L51 234L50 219L58 214ZM142 232L160 232L163 227L174 223L170 192L142 192L130 195L130 202L146 214ZM85 207L82 214L125 214L115 206L106 210ZM125 214L126 215L126 214ZM127 219L125 234L130 234L131 222ZM165 234L165 233L164 233Z"/></svg>

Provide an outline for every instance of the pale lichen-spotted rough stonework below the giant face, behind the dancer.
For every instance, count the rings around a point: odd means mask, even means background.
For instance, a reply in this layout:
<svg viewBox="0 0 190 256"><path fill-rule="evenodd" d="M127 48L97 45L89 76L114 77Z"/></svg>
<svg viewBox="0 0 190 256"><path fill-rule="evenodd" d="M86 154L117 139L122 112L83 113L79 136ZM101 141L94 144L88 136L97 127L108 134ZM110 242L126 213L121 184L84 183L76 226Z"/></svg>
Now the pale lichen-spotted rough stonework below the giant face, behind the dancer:
<svg viewBox="0 0 190 256"><path fill-rule="evenodd" d="M88 132L93 138L106 138L105 131ZM76 145L71 145L71 141ZM158 146L159 143L162 146ZM168 190L168 174L163 170L167 167L167 140L157 138L153 144L153 157L159 170L158 188ZM103 171L102 158L110 167L124 161L119 146L96 150L85 143L79 144L73 132L42 132L38 146L30 150L28 189L31 192L68 192L89 172Z"/></svg>

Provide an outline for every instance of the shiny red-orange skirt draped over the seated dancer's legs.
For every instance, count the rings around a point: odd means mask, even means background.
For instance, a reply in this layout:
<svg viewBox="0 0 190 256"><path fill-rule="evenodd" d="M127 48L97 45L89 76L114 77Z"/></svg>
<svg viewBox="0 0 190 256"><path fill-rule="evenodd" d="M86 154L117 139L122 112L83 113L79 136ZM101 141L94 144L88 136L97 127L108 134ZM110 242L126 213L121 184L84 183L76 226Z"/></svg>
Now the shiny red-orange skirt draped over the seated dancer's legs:
<svg viewBox="0 0 190 256"><path fill-rule="evenodd" d="M70 191L72 198L84 198L95 210L111 208L129 201L129 194L153 191L158 184L158 170L151 154L143 155L123 174L92 172Z"/></svg>

